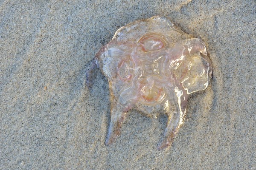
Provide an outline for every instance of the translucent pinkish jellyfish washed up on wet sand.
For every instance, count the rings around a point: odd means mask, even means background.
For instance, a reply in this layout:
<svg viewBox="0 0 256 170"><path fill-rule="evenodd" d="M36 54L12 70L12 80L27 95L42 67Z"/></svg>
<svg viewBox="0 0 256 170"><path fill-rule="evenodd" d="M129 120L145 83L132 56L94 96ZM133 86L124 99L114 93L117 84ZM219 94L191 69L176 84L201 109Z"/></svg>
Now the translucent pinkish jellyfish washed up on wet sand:
<svg viewBox="0 0 256 170"><path fill-rule="evenodd" d="M119 28L93 59L87 72L88 87L96 68L107 77L111 92L111 122L105 144L112 144L120 135L123 121L135 108L152 118L167 114L159 149L172 144L184 122L189 94L206 89L212 75L204 42L159 16ZM143 107L138 109L138 104ZM125 109L117 105L125 105Z"/></svg>

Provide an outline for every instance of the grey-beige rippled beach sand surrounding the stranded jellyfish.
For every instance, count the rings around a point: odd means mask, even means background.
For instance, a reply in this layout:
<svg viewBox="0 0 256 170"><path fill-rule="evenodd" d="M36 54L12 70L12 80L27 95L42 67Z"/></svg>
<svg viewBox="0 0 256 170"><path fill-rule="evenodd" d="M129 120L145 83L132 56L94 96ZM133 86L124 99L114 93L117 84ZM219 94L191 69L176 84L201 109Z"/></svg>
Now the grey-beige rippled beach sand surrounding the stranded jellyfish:
<svg viewBox="0 0 256 170"><path fill-rule="evenodd" d="M0 1L0 170L256 169L255 0ZM134 20L169 17L212 59L169 150L166 116L131 111L116 143L107 80L84 85L88 62Z"/></svg>

